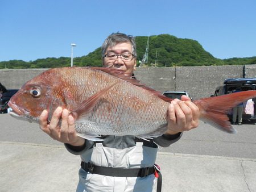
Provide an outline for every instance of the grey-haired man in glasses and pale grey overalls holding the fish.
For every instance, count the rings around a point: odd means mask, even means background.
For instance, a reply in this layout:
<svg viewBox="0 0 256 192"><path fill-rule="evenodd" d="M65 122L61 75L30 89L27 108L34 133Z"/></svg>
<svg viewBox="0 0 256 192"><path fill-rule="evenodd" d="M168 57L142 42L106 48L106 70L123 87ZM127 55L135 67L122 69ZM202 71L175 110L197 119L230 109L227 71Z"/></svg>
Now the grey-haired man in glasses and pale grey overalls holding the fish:
<svg viewBox="0 0 256 192"><path fill-rule="evenodd" d="M102 44L105 67L121 69L126 76L132 76L136 59L136 45L132 36L112 34ZM40 116L42 130L53 139L65 143L69 152L81 156L77 191L144 192L156 189L156 144L167 147L179 140L183 131L197 127L199 108L185 96L181 101L175 99L168 107L168 130L149 141L135 136L102 136L104 141L93 142L77 136L74 119L68 110L58 107L49 124L47 117L45 110Z"/></svg>

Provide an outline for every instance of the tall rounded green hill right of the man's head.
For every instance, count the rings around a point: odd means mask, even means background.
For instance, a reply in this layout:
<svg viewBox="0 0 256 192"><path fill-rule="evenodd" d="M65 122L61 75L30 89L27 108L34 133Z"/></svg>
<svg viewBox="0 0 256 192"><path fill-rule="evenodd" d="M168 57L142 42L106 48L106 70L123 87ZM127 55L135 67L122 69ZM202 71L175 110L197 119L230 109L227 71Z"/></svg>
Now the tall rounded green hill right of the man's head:
<svg viewBox="0 0 256 192"><path fill-rule="evenodd" d="M136 37L138 60L142 60L147 37ZM172 35L150 36L148 64L155 64L158 53L158 66L199 66L221 65L222 60L214 58L195 40L180 39Z"/></svg>

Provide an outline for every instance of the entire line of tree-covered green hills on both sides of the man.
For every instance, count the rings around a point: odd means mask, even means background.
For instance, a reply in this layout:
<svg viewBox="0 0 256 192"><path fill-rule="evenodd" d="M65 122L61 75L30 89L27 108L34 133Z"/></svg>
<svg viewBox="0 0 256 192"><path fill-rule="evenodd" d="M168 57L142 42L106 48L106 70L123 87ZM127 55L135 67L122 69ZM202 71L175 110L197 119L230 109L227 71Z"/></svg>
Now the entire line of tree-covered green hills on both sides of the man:
<svg viewBox="0 0 256 192"><path fill-rule="evenodd" d="M135 37L137 43L137 64L142 60L146 50L147 36ZM217 59L205 51L199 42L192 39L181 39L172 35L154 35L149 37L148 62L146 66L208 66L208 65L245 65L256 64L256 57ZM75 57L74 66L101 66L101 49L97 48L86 56ZM0 69L4 68L55 68L69 66L69 57L48 57L31 62L10 60L0 62Z"/></svg>

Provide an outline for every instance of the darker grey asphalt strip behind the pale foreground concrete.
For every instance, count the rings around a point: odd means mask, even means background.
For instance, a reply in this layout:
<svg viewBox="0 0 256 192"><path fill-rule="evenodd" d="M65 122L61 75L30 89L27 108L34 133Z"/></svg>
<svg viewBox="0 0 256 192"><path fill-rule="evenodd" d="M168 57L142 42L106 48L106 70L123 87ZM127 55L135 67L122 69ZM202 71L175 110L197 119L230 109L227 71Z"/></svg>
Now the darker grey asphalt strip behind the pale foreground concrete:
<svg viewBox="0 0 256 192"><path fill-rule="evenodd" d="M178 142L160 151L256 159L255 124L235 125L234 128L238 132L229 134L200 122L198 128L184 132ZM40 130L38 124L14 119L9 114L0 114L0 141L62 145Z"/></svg>

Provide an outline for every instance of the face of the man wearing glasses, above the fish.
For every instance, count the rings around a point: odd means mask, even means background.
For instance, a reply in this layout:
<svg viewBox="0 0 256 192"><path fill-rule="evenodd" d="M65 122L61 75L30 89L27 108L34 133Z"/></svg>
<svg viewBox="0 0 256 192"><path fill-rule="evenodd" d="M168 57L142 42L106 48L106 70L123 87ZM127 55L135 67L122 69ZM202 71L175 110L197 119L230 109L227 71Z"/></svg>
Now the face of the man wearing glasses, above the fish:
<svg viewBox="0 0 256 192"><path fill-rule="evenodd" d="M108 53L121 55L125 53L133 53L133 49L130 42L118 43L113 47L108 47L105 54ZM114 60L110 60L108 57L104 57L103 65L109 68L124 70L127 76L131 76L133 74L133 70L135 70L136 62L137 61L135 57L133 57L131 61L124 61L121 56L118 56L117 59Z"/></svg>

